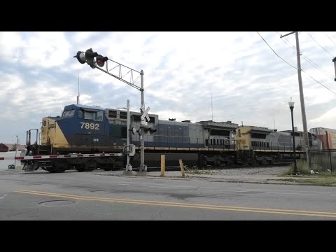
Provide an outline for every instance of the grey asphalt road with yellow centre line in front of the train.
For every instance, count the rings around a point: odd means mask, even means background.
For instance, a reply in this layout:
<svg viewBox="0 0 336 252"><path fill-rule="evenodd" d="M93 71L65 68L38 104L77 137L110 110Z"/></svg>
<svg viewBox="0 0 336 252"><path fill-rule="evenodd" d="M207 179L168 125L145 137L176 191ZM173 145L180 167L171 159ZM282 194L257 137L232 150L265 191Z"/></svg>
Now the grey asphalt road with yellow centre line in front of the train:
<svg viewBox="0 0 336 252"><path fill-rule="evenodd" d="M332 187L118 173L2 170L0 220L336 220Z"/></svg>

